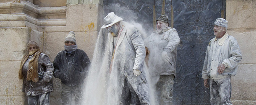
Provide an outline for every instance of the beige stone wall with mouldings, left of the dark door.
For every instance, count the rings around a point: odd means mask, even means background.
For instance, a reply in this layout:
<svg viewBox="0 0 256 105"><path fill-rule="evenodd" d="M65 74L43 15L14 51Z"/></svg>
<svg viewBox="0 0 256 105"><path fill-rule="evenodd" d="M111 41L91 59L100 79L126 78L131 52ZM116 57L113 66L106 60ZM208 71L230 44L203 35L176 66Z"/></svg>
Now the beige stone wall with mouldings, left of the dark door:
<svg viewBox="0 0 256 105"><path fill-rule="evenodd" d="M40 1L39 6L34 5ZM92 59L98 31L102 26L103 0L101 3L99 0L90 1L68 6L66 3L64 6L61 3L46 5L44 0L0 1L0 105L26 105L18 69L30 40L37 41L43 53L53 61L57 53L64 49L68 32L74 31L78 49L84 50ZM50 103L61 105L60 79L54 78L53 82L54 92L50 95Z"/></svg>

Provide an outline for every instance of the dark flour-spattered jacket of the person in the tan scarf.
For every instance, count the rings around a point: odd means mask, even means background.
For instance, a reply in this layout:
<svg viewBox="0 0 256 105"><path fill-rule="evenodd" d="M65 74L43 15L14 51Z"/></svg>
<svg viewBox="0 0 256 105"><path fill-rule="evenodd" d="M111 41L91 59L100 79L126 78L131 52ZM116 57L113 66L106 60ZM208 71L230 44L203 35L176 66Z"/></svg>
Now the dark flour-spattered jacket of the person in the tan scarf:
<svg viewBox="0 0 256 105"><path fill-rule="evenodd" d="M41 95L47 92L53 91L52 77L53 77L53 65L46 54L41 53L38 58L38 67L37 71L44 74L42 79L39 79L37 82L28 81L26 79L26 71L28 70L28 61L32 59L34 55L29 56L29 59L26 61L22 68L24 74L23 79L23 88L22 92L25 92L26 96L36 96Z"/></svg>

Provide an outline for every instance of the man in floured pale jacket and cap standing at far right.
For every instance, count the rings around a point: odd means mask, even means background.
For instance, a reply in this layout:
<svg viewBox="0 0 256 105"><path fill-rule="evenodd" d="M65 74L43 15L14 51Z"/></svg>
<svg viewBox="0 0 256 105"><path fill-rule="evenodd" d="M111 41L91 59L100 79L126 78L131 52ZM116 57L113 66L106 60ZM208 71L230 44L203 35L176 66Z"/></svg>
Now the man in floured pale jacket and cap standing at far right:
<svg viewBox="0 0 256 105"><path fill-rule="evenodd" d="M238 63L242 59L238 42L226 32L227 23L224 18L217 18L214 22L216 37L209 42L204 59L202 78L204 87L210 87L212 105L232 105L230 78L237 73Z"/></svg>

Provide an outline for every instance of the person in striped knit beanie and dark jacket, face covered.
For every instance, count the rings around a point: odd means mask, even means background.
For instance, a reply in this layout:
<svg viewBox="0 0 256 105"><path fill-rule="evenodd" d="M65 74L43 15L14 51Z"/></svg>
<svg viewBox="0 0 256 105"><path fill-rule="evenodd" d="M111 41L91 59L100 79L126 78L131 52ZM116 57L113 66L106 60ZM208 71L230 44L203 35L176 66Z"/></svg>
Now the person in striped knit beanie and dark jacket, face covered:
<svg viewBox="0 0 256 105"><path fill-rule="evenodd" d="M54 77L61 80L62 105L79 105L90 60L83 50L77 49L73 31L68 33L64 44L65 49L60 51L53 61Z"/></svg>

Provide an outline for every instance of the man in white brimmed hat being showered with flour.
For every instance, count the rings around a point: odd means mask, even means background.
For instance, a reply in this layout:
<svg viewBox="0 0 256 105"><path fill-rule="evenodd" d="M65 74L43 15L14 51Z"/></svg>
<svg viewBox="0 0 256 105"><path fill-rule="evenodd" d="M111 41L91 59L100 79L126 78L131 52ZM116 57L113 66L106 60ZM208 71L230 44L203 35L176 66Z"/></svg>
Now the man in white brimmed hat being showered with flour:
<svg viewBox="0 0 256 105"><path fill-rule="evenodd" d="M108 13L102 28L109 33L110 73L118 71L124 79L120 80L124 82L122 105L149 105L149 85L144 72L146 52L141 34L115 13Z"/></svg>

